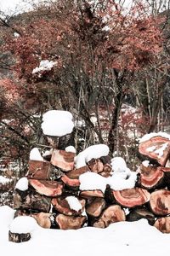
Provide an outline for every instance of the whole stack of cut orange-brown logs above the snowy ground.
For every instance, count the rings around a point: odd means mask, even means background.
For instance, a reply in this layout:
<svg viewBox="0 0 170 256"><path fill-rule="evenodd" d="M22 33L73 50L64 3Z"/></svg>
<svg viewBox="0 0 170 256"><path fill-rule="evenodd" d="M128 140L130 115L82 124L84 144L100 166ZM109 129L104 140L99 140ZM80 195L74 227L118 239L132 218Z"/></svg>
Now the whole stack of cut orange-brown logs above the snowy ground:
<svg viewBox="0 0 170 256"><path fill-rule="evenodd" d="M139 143L139 154L145 161L139 166L135 187L115 191L107 186L103 193L97 189L80 190L79 177L85 172L111 176L109 156L75 169L76 154L54 148L44 161L29 161L29 188L15 189L15 217L28 215L43 228L62 230L83 226L106 228L118 221L146 218L161 232L170 233L169 153L167 137L155 136ZM149 165L146 160L150 160ZM82 208L72 209L66 200L68 196L76 197Z"/></svg>

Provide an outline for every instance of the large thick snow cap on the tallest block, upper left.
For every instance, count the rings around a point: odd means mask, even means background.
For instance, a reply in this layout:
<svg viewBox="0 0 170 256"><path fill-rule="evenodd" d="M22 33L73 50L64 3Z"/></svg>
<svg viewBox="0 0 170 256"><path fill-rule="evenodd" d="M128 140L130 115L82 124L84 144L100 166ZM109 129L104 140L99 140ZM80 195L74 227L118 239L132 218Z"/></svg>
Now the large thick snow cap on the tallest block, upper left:
<svg viewBox="0 0 170 256"><path fill-rule="evenodd" d="M63 110L49 110L42 116L42 131L48 136L64 136L72 132L72 114Z"/></svg>

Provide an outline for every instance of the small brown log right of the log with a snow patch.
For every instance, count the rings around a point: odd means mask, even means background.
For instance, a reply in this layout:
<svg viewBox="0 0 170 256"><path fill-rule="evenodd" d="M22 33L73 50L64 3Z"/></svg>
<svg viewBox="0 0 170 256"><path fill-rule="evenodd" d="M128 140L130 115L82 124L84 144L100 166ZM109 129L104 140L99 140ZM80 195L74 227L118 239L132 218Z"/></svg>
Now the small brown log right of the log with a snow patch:
<svg viewBox="0 0 170 256"><path fill-rule="evenodd" d="M88 215L97 218L101 212L105 209L106 202L104 198L94 198L93 201L90 201L86 207L86 212Z"/></svg>

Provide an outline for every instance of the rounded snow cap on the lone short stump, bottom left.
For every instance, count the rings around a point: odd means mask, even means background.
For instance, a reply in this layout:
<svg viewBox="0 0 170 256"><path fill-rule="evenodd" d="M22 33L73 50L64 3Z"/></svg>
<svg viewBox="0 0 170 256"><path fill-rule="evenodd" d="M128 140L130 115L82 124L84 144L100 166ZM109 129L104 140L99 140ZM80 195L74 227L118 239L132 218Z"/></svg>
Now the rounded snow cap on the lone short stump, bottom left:
<svg viewBox="0 0 170 256"><path fill-rule="evenodd" d="M14 218L10 224L9 230L12 233L26 234L36 230L37 227L39 226L35 218L30 216L19 216Z"/></svg>

